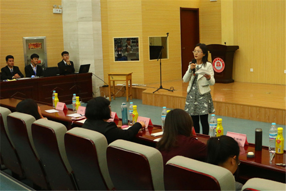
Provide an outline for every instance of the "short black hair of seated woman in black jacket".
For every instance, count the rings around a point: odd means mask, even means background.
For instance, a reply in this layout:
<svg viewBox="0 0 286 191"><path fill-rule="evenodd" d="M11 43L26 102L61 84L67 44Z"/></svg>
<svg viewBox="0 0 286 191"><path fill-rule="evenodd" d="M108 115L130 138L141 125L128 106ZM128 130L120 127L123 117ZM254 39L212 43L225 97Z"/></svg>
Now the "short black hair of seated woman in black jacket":
<svg viewBox="0 0 286 191"><path fill-rule="evenodd" d="M110 101L104 97L96 97L86 105L87 119L110 119Z"/></svg>

